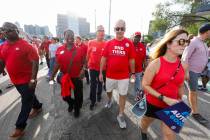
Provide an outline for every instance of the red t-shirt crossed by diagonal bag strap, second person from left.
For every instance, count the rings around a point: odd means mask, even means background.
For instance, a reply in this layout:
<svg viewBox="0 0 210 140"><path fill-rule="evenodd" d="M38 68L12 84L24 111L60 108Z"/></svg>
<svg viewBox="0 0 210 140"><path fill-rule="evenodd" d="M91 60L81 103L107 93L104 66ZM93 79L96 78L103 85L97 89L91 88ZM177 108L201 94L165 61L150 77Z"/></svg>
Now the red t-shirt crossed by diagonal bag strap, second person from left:
<svg viewBox="0 0 210 140"><path fill-rule="evenodd" d="M67 73L70 60L72 58L72 52L76 49L76 54L73 58L73 62L70 69L70 77L79 77L80 71L83 67L86 52L82 47L74 47L70 50L66 48L66 45L59 47L56 51L56 61L60 65L60 70L62 73Z"/></svg>

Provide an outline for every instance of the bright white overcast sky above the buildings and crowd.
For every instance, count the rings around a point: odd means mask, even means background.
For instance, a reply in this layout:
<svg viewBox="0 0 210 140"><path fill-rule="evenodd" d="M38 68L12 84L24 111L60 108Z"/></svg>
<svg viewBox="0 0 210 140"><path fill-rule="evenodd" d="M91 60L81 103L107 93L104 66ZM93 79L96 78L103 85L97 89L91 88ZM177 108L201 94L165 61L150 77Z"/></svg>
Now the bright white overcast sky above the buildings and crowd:
<svg viewBox="0 0 210 140"><path fill-rule="evenodd" d="M155 5L165 0L112 0L111 34L118 19L124 19L127 24L126 35L135 31L147 34L149 21ZM48 25L53 35L56 35L57 14L73 12L90 22L91 32L96 24L102 24L108 33L109 0L4 0L0 8L0 25L5 21L18 21L24 24Z"/></svg>

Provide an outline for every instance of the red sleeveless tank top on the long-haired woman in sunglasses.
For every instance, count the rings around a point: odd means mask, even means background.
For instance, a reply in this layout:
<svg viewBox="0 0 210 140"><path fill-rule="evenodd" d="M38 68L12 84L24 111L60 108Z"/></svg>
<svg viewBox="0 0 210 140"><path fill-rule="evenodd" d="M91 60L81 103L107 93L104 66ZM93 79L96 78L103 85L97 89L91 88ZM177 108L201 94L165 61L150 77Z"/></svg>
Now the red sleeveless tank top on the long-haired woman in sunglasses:
<svg viewBox="0 0 210 140"><path fill-rule="evenodd" d="M177 59L176 62L172 63L172 62L168 62L163 57L160 57L160 69L158 73L154 76L153 81L151 83L151 87L153 89L157 89L161 85L163 85L163 83L168 83L169 79L175 73L179 65L179 61L180 60ZM158 91L160 94L166 97L178 99L179 98L178 90L179 90L180 85L183 83L183 81L184 81L184 69L181 65L175 78L171 80L167 85L165 85L164 87L156 91ZM155 96L149 93L147 94L147 93L148 92L146 92L146 98L147 98L148 103L155 105L157 107L160 107L160 108L168 107L168 105L165 102L160 101Z"/></svg>

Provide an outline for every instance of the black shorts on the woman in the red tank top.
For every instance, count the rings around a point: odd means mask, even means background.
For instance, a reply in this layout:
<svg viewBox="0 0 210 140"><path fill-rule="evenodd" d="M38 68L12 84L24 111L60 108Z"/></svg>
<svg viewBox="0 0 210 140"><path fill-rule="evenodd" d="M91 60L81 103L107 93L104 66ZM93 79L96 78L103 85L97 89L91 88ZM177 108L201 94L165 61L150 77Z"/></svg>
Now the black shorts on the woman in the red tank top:
<svg viewBox="0 0 210 140"><path fill-rule="evenodd" d="M162 109L164 109L164 108L154 106L154 105L147 102L147 111L145 113L145 116L155 118L155 119L159 119L157 117L157 115L155 114L155 112L160 111Z"/></svg>

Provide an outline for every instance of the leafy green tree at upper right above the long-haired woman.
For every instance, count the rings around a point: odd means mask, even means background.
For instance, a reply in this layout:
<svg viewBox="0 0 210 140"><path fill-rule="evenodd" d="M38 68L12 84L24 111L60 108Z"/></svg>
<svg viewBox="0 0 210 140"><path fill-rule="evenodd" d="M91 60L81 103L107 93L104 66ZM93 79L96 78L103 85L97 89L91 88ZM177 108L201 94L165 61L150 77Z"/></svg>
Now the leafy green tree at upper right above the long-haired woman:
<svg viewBox="0 0 210 140"><path fill-rule="evenodd" d="M182 26L196 33L201 23L210 22L209 18L195 14L201 2L202 0L168 0L165 3L159 3L153 12L155 19L151 24L150 32L166 31L175 26ZM172 10L176 5L179 5L182 10Z"/></svg>

